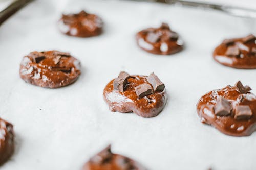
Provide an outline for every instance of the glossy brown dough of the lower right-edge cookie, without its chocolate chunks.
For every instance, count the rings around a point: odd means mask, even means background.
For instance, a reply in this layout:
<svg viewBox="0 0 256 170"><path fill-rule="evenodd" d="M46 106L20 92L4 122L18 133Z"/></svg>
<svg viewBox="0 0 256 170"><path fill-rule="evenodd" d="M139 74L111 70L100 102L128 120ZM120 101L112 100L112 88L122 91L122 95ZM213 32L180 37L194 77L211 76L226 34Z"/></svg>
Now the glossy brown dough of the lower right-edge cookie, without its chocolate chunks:
<svg viewBox="0 0 256 170"><path fill-rule="evenodd" d="M247 105L251 108L253 115L249 120L234 119L234 110L231 116L216 116L214 106L217 98L222 96L231 102L232 108L239 105ZM202 123L216 127L224 134L231 136L249 136L256 130L256 96L252 93L241 94L237 87L227 86L220 90L212 90L202 96L197 104L197 113Z"/></svg>

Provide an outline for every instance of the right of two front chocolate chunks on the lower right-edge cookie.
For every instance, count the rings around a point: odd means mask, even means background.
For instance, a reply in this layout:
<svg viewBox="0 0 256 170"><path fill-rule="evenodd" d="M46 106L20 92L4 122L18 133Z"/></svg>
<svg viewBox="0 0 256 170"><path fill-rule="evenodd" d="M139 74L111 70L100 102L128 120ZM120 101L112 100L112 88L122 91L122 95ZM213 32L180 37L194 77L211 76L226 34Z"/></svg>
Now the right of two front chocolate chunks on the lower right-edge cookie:
<svg viewBox="0 0 256 170"><path fill-rule="evenodd" d="M252 116L252 111L249 106L238 105L236 112L234 113L234 119L236 120L248 120Z"/></svg>

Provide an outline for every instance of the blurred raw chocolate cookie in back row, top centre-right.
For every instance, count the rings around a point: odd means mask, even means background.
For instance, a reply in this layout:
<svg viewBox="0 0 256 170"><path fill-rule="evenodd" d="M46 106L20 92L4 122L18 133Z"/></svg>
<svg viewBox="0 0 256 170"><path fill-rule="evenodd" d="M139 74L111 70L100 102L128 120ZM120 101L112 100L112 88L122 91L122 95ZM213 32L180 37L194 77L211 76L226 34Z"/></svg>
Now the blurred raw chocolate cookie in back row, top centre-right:
<svg viewBox="0 0 256 170"><path fill-rule="evenodd" d="M167 23L162 23L159 28L138 32L136 40L140 48L153 54L173 54L183 48L183 41L176 32L170 30Z"/></svg>

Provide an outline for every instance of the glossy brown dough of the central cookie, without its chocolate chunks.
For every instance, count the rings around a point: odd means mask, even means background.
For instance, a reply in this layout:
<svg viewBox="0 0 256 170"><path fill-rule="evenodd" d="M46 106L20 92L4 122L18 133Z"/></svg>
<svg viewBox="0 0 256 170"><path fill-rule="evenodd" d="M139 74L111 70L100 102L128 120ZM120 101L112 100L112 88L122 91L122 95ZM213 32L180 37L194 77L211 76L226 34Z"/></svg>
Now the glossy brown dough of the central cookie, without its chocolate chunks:
<svg viewBox="0 0 256 170"><path fill-rule="evenodd" d="M106 103L108 103L111 111L118 111L121 113L134 112L142 117L157 116L164 108L167 102L166 91L155 92L138 99L135 87L147 83L147 76L130 76L127 80L129 85L126 86L122 93L118 90L113 90L113 81L106 85L103 96Z"/></svg>

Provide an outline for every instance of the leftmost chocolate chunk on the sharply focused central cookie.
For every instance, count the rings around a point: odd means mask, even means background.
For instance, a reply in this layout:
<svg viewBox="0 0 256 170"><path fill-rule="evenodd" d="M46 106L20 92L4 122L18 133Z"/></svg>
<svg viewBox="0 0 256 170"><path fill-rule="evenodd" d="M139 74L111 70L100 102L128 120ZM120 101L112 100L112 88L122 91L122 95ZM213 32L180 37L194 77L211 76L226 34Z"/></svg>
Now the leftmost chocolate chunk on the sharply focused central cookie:
<svg viewBox="0 0 256 170"><path fill-rule="evenodd" d="M113 88L115 90L124 92L125 86L128 84L128 78L129 74L127 74L127 72L121 71L118 77L113 81Z"/></svg>

